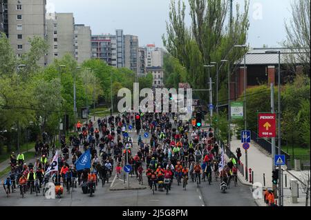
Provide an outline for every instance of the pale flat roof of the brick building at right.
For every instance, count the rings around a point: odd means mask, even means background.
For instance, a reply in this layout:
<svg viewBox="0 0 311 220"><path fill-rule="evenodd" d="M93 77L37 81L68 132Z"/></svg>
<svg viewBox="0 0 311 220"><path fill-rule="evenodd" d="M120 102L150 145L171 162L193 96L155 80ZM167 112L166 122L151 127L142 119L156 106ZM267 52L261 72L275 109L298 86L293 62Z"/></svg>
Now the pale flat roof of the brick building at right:
<svg viewBox="0 0 311 220"><path fill-rule="evenodd" d="M281 51L281 64L288 63L288 57L294 56L296 60L299 60L299 54L305 53L304 51L293 52L289 48L254 48L246 54L246 65L277 65L279 64L279 54L266 54L268 50ZM308 56L307 53L305 53ZM236 62L235 64L244 64L244 59L241 59L241 63ZM299 64L299 63L297 63Z"/></svg>

